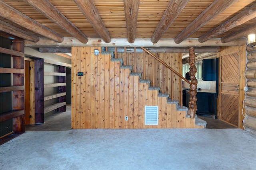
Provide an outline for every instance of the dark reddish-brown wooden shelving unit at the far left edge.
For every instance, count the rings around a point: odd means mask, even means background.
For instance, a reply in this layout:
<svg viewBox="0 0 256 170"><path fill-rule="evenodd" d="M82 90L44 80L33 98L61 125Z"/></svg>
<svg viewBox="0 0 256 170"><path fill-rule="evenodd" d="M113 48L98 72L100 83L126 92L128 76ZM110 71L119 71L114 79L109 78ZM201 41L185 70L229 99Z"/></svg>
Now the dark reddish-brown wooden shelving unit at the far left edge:
<svg viewBox="0 0 256 170"><path fill-rule="evenodd" d="M10 74L10 80L12 80L11 86L0 88L1 95L6 92L12 93L12 101L9 101L10 99L1 100L1 104L12 105L12 109L9 111L3 112L1 110L1 123L12 119L13 131L11 133L24 133L24 40L12 39L12 49L0 47L0 51L1 53L10 55L10 60L12 61L11 68L0 68L0 73ZM10 135L10 133L6 135Z"/></svg>

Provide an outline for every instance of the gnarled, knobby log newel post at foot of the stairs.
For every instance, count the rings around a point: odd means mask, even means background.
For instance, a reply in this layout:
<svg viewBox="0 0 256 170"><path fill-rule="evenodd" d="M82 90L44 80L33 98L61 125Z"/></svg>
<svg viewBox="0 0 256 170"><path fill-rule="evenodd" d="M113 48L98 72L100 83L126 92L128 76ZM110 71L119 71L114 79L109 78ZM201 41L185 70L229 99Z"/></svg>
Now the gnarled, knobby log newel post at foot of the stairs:
<svg viewBox="0 0 256 170"><path fill-rule="evenodd" d="M188 115L190 115L190 118L195 118L195 114L196 114L196 88L197 88L197 80L196 80L196 72L197 72L197 68L196 68L196 54L194 51L194 47L189 47L189 75L190 75L190 80L191 83L190 84L190 90L189 90L189 103L188 103Z"/></svg>

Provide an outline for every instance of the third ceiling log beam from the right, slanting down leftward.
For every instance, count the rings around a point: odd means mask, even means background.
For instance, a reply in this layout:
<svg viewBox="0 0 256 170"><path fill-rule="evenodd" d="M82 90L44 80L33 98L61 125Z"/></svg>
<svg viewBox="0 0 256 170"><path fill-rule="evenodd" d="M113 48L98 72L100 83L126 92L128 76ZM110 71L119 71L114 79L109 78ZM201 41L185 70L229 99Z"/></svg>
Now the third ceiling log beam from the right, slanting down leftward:
<svg viewBox="0 0 256 170"><path fill-rule="evenodd" d="M181 43L184 39L188 38L192 33L196 32L210 20L218 16L221 12L226 10L234 4L236 0L226 0L225 3L220 0L215 0L204 10L192 23L190 23L176 38L175 43Z"/></svg>

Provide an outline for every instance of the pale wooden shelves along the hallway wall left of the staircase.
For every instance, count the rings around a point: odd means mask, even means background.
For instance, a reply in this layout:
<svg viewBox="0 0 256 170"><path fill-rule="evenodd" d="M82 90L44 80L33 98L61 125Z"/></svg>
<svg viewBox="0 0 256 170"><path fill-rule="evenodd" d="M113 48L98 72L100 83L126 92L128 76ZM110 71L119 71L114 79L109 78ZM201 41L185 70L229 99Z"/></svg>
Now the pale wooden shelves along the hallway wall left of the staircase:
<svg viewBox="0 0 256 170"><path fill-rule="evenodd" d="M44 88L58 88L58 93L44 96L44 101L58 98L58 103L44 107L44 113L48 113L52 110L58 109L58 111L66 111L66 66L71 64L60 63L44 59L44 63L53 64L58 66L58 72L44 72L44 76L57 76L58 82L51 84L44 84Z"/></svg>

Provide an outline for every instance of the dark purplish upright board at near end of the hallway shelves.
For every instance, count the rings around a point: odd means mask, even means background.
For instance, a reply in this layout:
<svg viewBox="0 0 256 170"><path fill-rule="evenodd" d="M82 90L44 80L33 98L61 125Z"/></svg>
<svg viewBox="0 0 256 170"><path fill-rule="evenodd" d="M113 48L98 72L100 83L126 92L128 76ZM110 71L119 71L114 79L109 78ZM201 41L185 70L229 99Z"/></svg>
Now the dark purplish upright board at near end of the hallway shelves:
<svg viewBox="0 0 256 170"><path fill-rule="evenodd" d="M44 123L44 59L34 60L35 123Z"/></svg>

